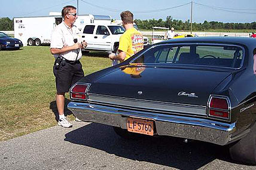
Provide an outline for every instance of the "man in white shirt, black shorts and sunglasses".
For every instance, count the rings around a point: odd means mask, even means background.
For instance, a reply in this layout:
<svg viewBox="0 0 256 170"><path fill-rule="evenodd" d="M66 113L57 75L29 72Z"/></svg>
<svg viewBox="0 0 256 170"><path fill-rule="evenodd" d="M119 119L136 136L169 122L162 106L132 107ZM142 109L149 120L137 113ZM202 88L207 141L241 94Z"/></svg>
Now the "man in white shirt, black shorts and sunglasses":
<svg viewBox="0 0 256 170"><path fill-rule="evenodd" d="M56 103L59 112L58 125L71 128L64 115L65 92L79 79L83 78L84 72L80 63L82 48L86 48L86 42L77 42L77 28L74 26L77 19L77 8L72 5L63 7L62 17L64 20L57 25L51 35L51 54L56 58L53 73L56 78Z"/></svg>

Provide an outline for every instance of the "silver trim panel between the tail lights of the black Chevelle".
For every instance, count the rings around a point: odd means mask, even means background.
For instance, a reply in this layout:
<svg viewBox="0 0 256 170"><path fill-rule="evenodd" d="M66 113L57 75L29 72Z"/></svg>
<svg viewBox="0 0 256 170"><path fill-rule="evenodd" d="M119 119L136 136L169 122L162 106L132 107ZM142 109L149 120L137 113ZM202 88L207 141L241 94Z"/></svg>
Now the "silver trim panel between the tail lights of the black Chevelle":
<svg viewBox="0 0 256 170"><path fill-rule="evenodd" d="M193 115L206 116L205 106L193 106L187 104L176 104L176 103L166 103L160 101L150 101L150 100L139 100L136 98L124 98L124 97L114 97L108 95L98 95L88 93L88 101L104 103L104 104L114 104L118 106L126 107L136 107L148 110L155 110L161 112L178 112Z"/></svg>

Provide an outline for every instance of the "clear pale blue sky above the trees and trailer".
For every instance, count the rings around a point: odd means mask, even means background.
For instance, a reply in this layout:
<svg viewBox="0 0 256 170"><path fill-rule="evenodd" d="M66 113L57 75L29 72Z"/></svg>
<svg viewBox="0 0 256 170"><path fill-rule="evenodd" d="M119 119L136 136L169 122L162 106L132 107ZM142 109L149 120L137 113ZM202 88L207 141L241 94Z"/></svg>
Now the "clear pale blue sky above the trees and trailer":
<svg viewBox="0 0 256 170"><path fill-rule="evenodd" d="M135 18L188 20L191 0L79 0L79 14L109 15L120 19L120 12L130 10ZM251 23L256 21L256 0L193 0L193 22L221 21ZM48 16L65 5L77 7L77 0L0 0L0 17ZM179 7L180 6L180 7Z"/></svg>

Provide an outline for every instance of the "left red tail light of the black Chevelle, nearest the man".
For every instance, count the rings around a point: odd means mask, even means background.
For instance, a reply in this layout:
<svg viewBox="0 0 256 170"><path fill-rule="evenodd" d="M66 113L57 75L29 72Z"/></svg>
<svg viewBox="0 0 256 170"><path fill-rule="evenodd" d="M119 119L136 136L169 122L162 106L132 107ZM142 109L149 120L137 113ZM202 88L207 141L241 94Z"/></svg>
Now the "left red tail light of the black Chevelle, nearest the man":
<svg viewBox="0 0 256 170"><path fill-rule="evenodd" d="M70 89L70 98L71 100L87 100L87 91L90 84L75 84Z"/></svg>

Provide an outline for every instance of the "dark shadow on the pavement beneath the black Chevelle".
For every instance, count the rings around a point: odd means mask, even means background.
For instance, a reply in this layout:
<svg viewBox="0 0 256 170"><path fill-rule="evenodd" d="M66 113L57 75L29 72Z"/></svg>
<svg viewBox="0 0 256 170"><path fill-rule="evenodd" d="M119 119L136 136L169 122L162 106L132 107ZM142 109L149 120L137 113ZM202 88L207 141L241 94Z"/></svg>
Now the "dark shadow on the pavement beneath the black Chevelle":
<svg viewBox="0 0 256 170"><path fill-rule="evenodd" d="M115 134L112 126L99 123L75 129L65 135L65 141L103 150L131 160L156 163L178 169L198 169L215 159L230 161L221 146L182 138L144 137L126 140Z"/></svg>

